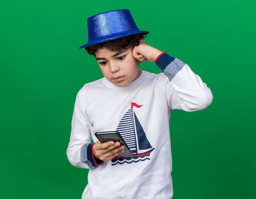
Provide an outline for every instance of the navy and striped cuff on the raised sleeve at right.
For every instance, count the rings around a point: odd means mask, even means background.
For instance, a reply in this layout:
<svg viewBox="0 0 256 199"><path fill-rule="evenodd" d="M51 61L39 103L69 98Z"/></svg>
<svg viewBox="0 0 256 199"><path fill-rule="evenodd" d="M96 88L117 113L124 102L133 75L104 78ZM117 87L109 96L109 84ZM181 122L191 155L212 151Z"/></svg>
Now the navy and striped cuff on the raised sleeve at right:
<svg viewBox="0 0 256 199"><path fill-rule="evenodd" d="M167 53L160 54L157 59L155 59L155 64L164 72L164 74L169 78L169 81L173 79L175 74L179 72L185 63L180 59L171 57Z"/></svg>

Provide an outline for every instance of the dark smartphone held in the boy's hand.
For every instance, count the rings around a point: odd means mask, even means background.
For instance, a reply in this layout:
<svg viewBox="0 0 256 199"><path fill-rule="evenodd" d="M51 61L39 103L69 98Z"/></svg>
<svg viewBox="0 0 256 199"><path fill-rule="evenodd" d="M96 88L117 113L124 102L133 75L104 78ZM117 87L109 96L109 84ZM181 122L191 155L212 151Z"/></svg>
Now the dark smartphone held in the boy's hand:
<svg viewBox="0 0 256 199"><path fill-rule="evenodd" d="M101 143L114 141L120 142L121 145L124 145L124 153L117 155L116 157L131 157L132 151L127 146L126 142L122 138L121 134L118 131L106 131L106 132L97 132L95 136Z"/></svg>

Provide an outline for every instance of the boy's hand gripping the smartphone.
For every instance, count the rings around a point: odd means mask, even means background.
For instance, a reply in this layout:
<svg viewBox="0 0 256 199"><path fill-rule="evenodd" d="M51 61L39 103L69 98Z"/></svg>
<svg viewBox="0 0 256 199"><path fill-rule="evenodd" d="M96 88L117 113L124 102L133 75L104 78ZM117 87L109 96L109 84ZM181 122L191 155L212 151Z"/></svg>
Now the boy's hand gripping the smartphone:
<svg viewBox="0 0 256 199"><path fill-rule="evenodd" d="M120 142L109 141L101 143L98 140L94 143L92 151L96 159L106 162L124 153L124 146L121 145Z"/></svg>

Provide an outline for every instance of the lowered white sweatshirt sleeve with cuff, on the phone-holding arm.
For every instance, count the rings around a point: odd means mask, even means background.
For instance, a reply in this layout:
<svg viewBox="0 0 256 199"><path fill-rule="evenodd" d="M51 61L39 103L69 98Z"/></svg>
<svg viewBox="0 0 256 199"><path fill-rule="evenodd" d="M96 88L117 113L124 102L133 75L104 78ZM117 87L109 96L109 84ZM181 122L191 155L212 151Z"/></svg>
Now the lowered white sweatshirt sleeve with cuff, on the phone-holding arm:
<svg viewBox="0 0 256 199"><path fill-rule="evenodd" d="M81 91L79 91L76 96L70 142L67 147L67 159L73 166L94 168L104 163L103 161L97 162L94 158L91 128L92 123L86 114L84 99Z"/></svg>

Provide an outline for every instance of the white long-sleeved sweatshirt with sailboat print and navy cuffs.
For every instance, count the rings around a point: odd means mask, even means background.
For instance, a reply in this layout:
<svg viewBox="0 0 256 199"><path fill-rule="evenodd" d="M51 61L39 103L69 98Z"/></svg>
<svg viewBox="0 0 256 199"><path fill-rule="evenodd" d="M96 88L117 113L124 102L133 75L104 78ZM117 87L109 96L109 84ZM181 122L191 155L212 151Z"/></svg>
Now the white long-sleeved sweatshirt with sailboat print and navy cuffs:
<svg viewBox="0 0 256 199"><path fill-rule="evenodd" d="M82 199L171 199L172 157L169 119L173 109L202 110L211 90L177 58L166 53L155 64L163 71L141 76L125 87L106 78L78 92L67 157L73 166L89 168ZM119 131L133 156L96 162L91 140L96 132Z"/></svg>

